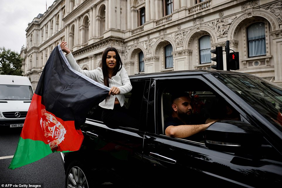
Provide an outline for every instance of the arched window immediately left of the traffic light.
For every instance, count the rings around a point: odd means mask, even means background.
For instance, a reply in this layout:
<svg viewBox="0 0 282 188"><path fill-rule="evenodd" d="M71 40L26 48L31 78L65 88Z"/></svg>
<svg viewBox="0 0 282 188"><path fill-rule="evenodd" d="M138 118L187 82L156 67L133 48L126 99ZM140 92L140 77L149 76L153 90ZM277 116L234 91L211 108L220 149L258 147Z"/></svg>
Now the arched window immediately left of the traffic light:
<svg viewBox="0 0 282 188"><path fill-rule="evenodd" d="M200 64L210 63L210 36L205 35L199 39Z"/></svg>

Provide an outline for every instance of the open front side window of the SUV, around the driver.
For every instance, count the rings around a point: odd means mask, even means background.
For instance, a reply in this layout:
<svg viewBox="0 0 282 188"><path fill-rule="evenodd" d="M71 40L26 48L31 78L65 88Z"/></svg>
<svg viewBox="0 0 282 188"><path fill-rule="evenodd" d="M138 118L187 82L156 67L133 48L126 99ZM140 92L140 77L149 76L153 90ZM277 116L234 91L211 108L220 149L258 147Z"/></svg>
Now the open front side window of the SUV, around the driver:
<svg viewBox="0 0 282 188"><path fill-rule="evenodd" d="M241 120L239 112L228 104L222 96L216 93L208 84L200 79L178 79L177 81L160 81L160 109L162 110L162 132L165 134L167 121L172 114L171 96L177 92L184 92L191 98L193 121L190 124L204 124L206 119L233 119ZM170 83L171 82L171 83ZM185 138L192 141L204 141L203 132Z"/></svg>

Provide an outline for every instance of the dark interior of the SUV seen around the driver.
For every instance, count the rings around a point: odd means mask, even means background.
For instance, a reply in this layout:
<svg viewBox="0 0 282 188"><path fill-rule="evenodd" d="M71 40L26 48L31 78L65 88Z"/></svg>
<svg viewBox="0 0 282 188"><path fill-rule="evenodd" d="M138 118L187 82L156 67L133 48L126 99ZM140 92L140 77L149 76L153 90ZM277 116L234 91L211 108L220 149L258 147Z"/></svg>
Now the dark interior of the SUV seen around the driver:
<svg viewBox="0 0 282 188"><path fill-rule="evenodd" d="M191 83L189 87L183 88L185 83ZM179 85L179 87L178 87ZM182 85L182 87L181 87ZM187 85L187 84L186 84ZM239 113L229 105L225 100L216 94L207 84L199 80L179 80L178 84L167 84L161 94L161 109L162 109L162 134L165 134L164 122L165 119L171 116L171 96L177 90L191 94L193 113L200 113L205 118L210 119L234 119L239 120ZM197 103L196 103L197 101ZM227 109L232 110L232 114L227 112Z"/></svg>

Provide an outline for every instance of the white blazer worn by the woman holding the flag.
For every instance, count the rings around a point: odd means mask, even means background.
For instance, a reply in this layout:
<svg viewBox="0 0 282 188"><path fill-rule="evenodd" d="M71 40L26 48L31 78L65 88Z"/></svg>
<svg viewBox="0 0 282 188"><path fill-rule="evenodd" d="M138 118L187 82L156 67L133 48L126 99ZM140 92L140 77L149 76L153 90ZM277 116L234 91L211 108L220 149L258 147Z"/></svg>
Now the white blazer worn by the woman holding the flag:
<svg viewBox="0 0 282 188"><path fill-rule="evenodd" d="M75 61L72 53L67 54L66 57L67 60L69 61L69 64L72 66L72 68L75 71L78 71L88 76L89 78L95 80L96 82L104 85L104 78L103 78L103 72L101 67L98 67L97 69L91 71L81 70L79 65ZM109 81L110 81L109 82L110 88L113 86L118 87L120 89L120 94L114 96L110 95L110 99L107 102L106 99L103 100L102 102L100 102L99 106L106 109L113 109L115 104L115 97L118 98L118 101L120 102L120 106L123 106L125 100L124 94L130 92L132 89L130 80L128 78L128 73L125 70L124 66L118 71L118 73L115 76L109 79Z"/></svg>

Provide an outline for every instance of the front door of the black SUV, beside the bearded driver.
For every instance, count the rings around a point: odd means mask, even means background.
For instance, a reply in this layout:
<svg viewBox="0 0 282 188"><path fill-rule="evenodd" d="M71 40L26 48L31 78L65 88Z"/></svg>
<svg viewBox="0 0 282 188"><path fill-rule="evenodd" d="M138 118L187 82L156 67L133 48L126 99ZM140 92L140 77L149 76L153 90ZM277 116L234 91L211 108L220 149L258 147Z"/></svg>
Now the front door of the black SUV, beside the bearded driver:
<svg viewBox="0 0 282 188"><path fill-rule="evenodd" d="M263 145L250 151L226 152L210 149L203 141L172 138L164 134L164 102L169 91L181 89L196 91L205 101L206 116L222 115L218 102L225 101L238 113L242 124L252 124L250 114L243 109L246 104L234 103L226 92L222 92L221 83L210 82L203 76L183 76L181 78L159 78L155 84L155 122L156 131L145 134L143 162L151 179L150 184L191 187L281 187L281 154L267 141L264 135ZM228 92L227 92L228 93ZM169 106L169 105L168 105ZM220 105L221 106L221 105ZM212 125L210 126L212 127ZM266 133L262 133L266 134ZM270 133L268 133L270 134ZM238 137L238 139L240 139ZM162 177L162 178L158 178Z"/></svg>

